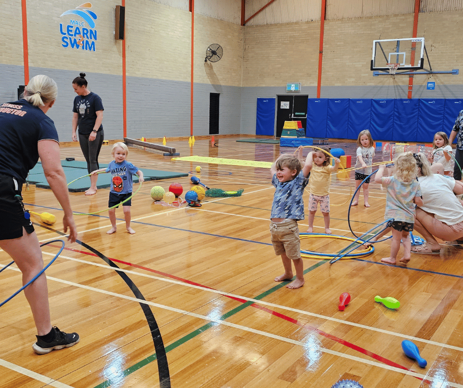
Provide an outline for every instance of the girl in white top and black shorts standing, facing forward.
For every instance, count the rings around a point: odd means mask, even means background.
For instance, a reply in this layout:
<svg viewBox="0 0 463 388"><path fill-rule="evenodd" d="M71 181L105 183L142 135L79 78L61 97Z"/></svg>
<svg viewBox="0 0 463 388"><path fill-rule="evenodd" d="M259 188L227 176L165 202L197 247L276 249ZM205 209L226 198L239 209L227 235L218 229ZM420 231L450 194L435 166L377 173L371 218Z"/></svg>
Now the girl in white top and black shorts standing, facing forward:
<svg viewBox="0 0 463 388"><path fill-rule="evenodd" d="M371 164L373 163L374 157L374 146L373 139L371 138L371 133L368 129L363 130L359 133L357 138L357 162L355 163L355 187L356 189L360 186L362 181L371 174ZM364 205L365 207L370 207L368 203L368 184L370 183L370 178L368 178L363 187L364 187ZM355 194L354 200L352 201L351 206L356 206L359 204L360 190Z"/></svg>

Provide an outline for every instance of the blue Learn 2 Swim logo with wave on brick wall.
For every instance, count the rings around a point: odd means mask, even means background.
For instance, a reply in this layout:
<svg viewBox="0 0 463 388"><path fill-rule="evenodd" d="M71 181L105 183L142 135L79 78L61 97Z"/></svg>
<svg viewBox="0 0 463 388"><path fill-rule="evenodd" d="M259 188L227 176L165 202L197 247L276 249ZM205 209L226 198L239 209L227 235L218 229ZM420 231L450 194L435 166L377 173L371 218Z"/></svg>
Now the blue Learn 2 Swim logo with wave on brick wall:
<svg viewBox="0 0 463 388"><path fill-rule="evenodd" d="M69 9L60 17L69 17L69 23L60 23L61 45L64 48L96 51L97 30L95 21L98 16L90 10L92 3L83 3L75 9ZM70 16L68 16L70 15Z"/></svg>

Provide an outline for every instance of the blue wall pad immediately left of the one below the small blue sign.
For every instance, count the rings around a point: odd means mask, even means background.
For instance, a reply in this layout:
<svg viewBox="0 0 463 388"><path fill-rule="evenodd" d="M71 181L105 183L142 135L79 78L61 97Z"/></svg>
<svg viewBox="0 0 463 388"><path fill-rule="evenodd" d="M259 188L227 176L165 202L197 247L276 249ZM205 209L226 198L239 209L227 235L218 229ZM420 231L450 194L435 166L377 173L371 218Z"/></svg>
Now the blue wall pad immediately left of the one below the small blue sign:
<svg viewBox="0 0 463 388"><path fill-rule="evenodd" d="M392 130L392 138L394 140L417 141L418 105L418 99L396 99L394 104L394 126Z"/></svg>

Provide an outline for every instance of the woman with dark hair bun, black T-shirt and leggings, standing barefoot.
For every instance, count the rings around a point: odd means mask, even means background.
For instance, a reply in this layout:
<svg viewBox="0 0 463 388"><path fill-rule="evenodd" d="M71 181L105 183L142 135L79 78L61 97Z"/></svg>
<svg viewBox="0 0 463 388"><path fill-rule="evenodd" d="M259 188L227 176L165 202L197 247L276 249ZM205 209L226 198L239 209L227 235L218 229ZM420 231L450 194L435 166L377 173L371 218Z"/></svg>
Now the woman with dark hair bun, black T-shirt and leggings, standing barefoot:
<svg viewBox="0 0 463 388"><path fill-rule="evenodd" d="M82 154L87 161L87 171L99 169L98 156L103 144L103 103L101 98L87 89L88 82L85 73L80 73L72 81L72 87L77 96L72 106L72 140L77 141L77 126L79 127L79 143ZM98 175L90 176L90 188L85 195L97 193Z"/></svg>

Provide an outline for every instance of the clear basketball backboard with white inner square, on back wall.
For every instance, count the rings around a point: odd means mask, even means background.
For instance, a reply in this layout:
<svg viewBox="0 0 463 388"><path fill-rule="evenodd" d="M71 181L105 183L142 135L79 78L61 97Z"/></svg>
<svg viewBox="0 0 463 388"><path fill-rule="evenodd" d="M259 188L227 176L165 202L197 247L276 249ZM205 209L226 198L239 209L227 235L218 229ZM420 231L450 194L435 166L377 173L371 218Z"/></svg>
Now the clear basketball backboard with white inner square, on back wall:
<svg viewBox="0 0 463 388"><path fill-rule="evenodd" d="M425 38L373 40L370 70L389 71L387 64L399 64L397 70L420 70L424 65Z"/></svg>

